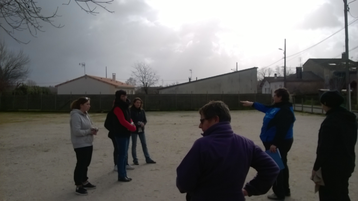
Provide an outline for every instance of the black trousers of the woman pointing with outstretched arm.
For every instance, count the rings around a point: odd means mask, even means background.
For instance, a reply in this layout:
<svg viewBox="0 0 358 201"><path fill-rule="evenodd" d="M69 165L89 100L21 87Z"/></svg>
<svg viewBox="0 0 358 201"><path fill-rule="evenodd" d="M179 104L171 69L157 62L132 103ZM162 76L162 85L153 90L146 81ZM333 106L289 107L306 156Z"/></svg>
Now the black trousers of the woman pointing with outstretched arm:
<svg viewBox="0 0 358 201"><path fill-rule="evenodd" d="M287 154L292 147L293 139L284 140L281 144L277 145L277 148L280 151L282 162L285 166L283 170L277 176L276 182L272 186L272 190L275 195L279 198L284 198L286 194L290 194L290 184L289 184L289 169L287 166ZM271 143L264 142L266 150L270 149Z"/></svg>

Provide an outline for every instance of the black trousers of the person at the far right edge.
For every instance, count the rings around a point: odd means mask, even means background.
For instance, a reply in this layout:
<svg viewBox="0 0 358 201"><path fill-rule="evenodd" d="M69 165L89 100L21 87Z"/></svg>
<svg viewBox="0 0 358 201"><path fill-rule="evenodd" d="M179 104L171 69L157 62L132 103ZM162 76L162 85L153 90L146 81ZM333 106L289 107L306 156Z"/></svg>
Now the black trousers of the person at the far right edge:
<svg viewBox="0 0 358 201"><path fill-rule="evenodd" d="M350 201L349 198L349 177L350 175L337 175L339 172L322 175L324 186L319 187L320 201Z"/></svg>

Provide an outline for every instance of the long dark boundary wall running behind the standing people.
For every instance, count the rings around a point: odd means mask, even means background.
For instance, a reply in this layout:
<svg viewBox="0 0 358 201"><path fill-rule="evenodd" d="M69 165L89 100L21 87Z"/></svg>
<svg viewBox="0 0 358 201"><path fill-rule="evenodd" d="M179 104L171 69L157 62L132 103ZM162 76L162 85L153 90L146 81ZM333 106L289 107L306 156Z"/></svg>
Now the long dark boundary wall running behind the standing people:
<svg viewBox="0 0 358 201"><path fill-rule="evenodd" d="M76 98L91 99L91 112L109 111L113 95L0 95L0 111L69 112ZM240 100L271 103L270 94L150 94L128 95L130 100L140 97L147 111L198 110L210 100L222 100L230 109L243 109Z"/></svg>

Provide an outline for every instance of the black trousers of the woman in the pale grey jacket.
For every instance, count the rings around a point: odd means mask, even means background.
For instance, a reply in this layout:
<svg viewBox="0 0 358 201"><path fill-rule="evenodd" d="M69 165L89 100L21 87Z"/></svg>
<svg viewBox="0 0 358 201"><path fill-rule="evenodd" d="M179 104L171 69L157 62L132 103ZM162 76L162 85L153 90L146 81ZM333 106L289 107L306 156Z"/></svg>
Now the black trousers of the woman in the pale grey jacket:
<svg viewBox="0 0 358 201"><path fill-rule="evenodd" d="M76 148L75 152L77 163L73 178L75 185L79 186L88 180L87 171L92 159L93 146Z"/></svg>

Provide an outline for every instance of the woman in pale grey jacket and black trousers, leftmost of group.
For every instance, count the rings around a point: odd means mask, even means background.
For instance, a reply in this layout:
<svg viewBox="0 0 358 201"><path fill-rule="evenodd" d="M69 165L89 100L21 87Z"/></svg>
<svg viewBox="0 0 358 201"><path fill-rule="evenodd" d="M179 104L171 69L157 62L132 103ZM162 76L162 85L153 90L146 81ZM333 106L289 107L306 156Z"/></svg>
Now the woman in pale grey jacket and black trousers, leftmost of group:
<svg viewBox="0 0 358 201"><path fill-rule="evenodd" d="M88 116L90 107L90 99L87 97L79 98L71 103L71 141L77 159L74 181L78 195L87 195L87 189L96 188L87 177L88 166L92 159L93 135L98 132L98 128L93 127Z"/></svg>

